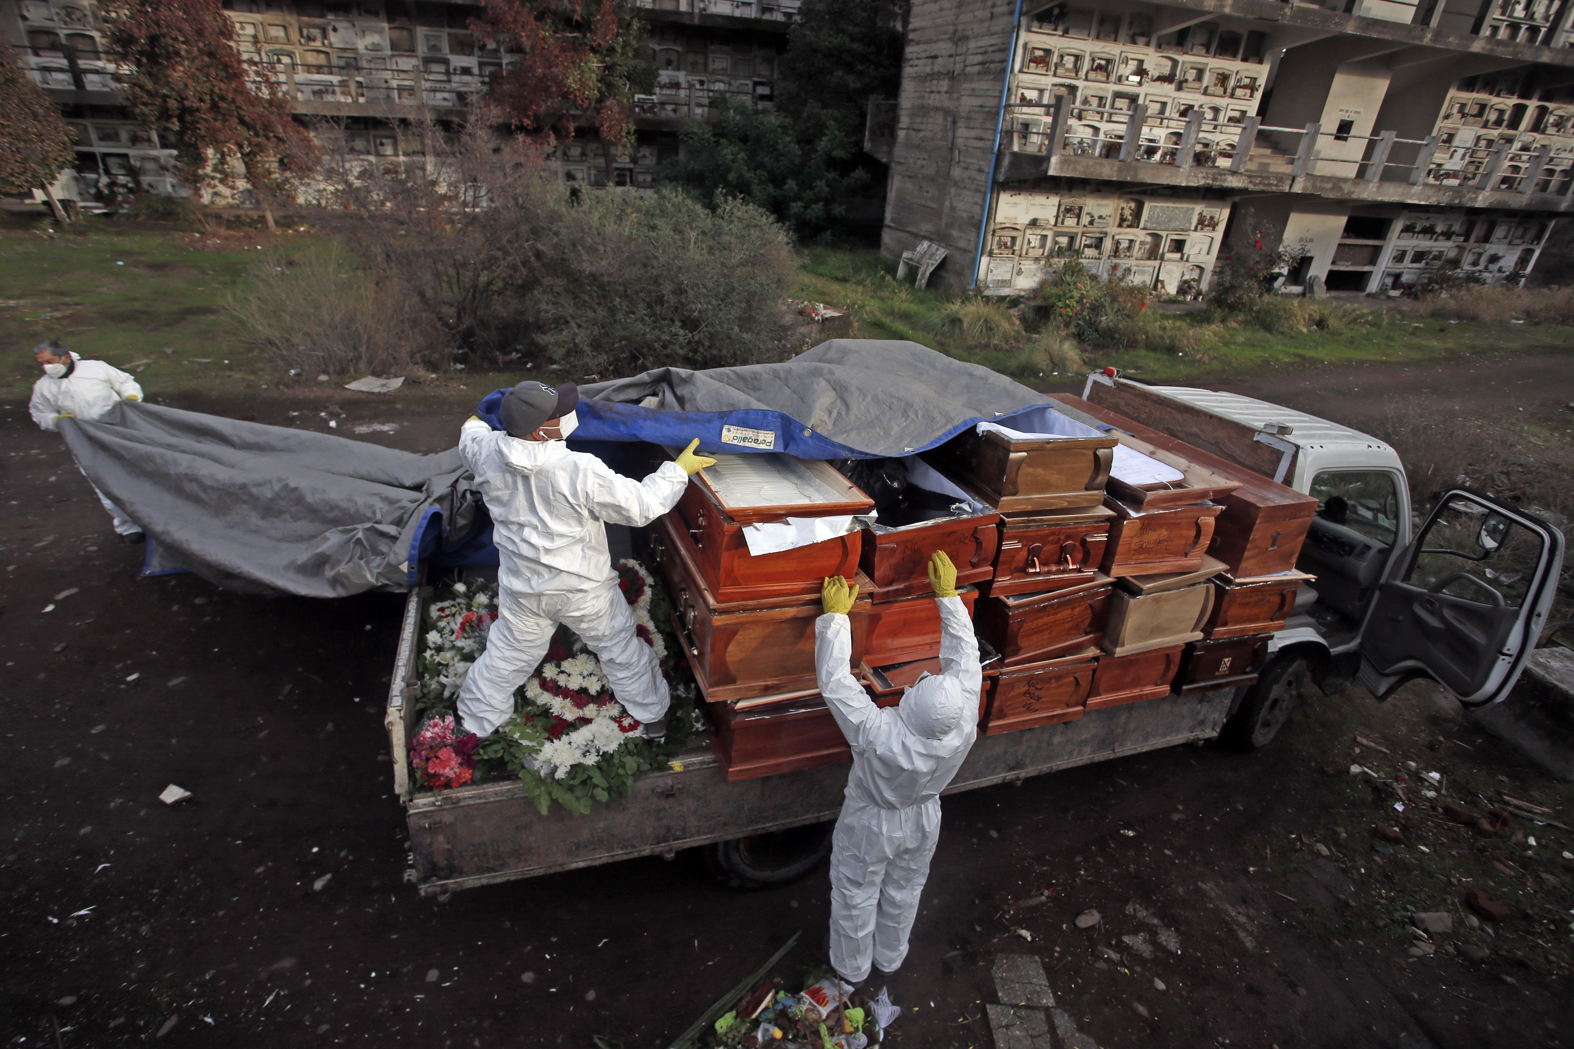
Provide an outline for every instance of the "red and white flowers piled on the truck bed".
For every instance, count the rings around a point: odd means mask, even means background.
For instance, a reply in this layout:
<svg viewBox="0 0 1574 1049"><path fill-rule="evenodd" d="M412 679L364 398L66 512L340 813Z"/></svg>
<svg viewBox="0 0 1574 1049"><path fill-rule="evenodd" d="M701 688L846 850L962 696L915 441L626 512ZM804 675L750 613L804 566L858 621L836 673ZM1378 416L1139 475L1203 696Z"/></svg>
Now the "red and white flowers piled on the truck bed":
<svg viewBox="0 0 1574 1049"><path fill-rule="evenodd" d="M666 738L660 742L645 739L639 722L612 695L601 673L601 661L573 631L559 628L546 659L515 694L513 717L486 739L469 744L472 749L463 756L461 744L449 744L458 760L460 775L466 760L482 775L488 769L505 769L519 777L541 813L554 801L571 812L586 813L592 802L626 794L642 772L667 764L682 749L694 725L694 687L686 675L675 672L672 646L656 626L661 620L652 615L653 609L664 612L666 594L639 561L619 561L617 572L623 598L634 612L636 632L655 650L672 686ZM486 635L497 618L496 605L493 593L455 583L452 598L428 607L431 629L420 656L423 709L445 706L458 695L464 675L486 648ZM445 720L452 725L452 716ZM428 722L428 727L436 722L439 719ZM422 736L425 733L423 728ZM412 763L422 736L411 747ZM431 739L441 739L441 723ZM475 741L474 736L469 739ZM427 747L430 750L431 744ZM442 745L431 750L425 767L433 760L439 761L439 769L449 767L441 750ZM417 771L423 782L441 790L430 772ZM456 786L458 782L449 777L444 785Z"/></svg>

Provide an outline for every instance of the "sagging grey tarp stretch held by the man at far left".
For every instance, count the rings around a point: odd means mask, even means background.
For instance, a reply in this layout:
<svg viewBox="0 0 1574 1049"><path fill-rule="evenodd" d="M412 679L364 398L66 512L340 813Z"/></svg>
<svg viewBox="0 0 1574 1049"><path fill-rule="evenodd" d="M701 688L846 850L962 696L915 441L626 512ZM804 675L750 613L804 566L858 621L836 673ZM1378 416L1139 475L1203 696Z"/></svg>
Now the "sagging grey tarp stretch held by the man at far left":
<svg viewBox="0 0 1574 1049"><path fill-rule="evenodd" d="M60 429L165 565L236 590L405 590L427 511L442 511L444 532L463 539L480 502L458 448L423 456L135 403Z"/></svg>

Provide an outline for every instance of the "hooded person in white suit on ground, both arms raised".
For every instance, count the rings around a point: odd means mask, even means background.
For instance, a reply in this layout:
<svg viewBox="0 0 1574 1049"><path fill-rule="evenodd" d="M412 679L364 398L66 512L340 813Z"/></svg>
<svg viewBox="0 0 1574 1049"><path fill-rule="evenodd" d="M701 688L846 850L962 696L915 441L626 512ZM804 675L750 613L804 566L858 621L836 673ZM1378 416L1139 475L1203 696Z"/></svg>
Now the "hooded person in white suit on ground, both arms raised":
<svg viewBox="0 0 1574 1049"><path fill-rule="evenodd" d="M858 598L841 576L825 580L825 615L814 624L814 664L836 723L853 749L842 815L831 838L831 966L848 983L874 964L892 974L907 937L929 860L940 840L940 791L977 738L979 643L957 596L957 569L944 552L929 561L940 605L940 673L926 675L897 706L880 708L853 679L847 612Z"/></svg>

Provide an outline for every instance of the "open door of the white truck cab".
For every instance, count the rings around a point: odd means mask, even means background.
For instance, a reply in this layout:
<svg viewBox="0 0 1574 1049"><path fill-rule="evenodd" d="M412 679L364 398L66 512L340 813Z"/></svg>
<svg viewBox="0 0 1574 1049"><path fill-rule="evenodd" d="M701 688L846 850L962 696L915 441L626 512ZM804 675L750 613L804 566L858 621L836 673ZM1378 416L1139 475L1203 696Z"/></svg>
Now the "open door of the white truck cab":
<svg viewBox="0 0 1574 1049"><path fill-rule="evenodd" d="M1536 646L1561 568L1557 528L1451 489L1388 565L1362 631L1362 684L1385 700L1431 678L1467 708L1497 703Z"/></svg>

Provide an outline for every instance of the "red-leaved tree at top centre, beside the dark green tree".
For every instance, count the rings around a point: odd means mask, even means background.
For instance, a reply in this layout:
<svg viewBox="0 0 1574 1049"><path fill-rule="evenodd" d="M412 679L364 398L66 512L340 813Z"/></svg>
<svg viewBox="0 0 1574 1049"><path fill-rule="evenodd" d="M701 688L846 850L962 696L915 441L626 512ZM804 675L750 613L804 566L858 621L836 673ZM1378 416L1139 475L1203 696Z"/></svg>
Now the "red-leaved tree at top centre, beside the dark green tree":
<svg viewBox="0 0 1574 1049"><path fill-rule="evenodd" d="M510 58L493 101L513 129L568 140L593 126L606 162L633 145L633 96L655 91L645 24L622 0L482 0L471 28Z"/></svg>

